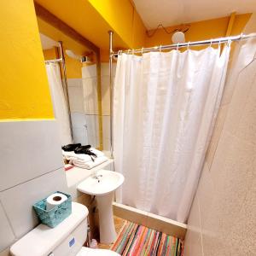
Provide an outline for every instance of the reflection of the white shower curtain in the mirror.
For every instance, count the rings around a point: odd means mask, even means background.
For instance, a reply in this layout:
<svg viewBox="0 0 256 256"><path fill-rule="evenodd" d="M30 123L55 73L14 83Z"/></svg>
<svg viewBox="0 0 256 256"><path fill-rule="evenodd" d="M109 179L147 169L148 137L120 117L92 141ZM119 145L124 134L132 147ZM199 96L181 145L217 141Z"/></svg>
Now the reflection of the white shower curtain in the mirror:
<svg viewBox="0 0 256 256"><path fill-rule="evenodd" d="M49 89L51 99L55 111L55 119L59 127L61 137L61 145L72 143L71 131L69 125L69 116L67 111L67 103L61 84L61 72L58 64L46 64L46 71L49 81Z"/></svg>

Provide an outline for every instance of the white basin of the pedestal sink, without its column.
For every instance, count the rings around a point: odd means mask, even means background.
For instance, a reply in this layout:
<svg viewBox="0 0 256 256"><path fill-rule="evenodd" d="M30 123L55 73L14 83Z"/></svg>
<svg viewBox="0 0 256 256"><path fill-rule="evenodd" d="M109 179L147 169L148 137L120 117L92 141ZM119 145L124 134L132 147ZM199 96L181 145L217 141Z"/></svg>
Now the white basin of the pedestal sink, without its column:
<svg viewBox="0 0 256 256"><path fill-rule="evenodd" d="M124 180L124 176L119 172L100 170L96 175L87 177L79 183L78 189L88 195L106 195L118 189Z"/></svg>

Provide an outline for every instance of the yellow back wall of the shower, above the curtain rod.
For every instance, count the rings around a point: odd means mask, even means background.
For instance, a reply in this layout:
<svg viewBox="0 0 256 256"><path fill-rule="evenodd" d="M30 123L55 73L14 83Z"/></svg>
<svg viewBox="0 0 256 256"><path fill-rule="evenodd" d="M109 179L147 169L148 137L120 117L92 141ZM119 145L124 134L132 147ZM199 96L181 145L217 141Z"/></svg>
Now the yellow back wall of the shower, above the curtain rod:
<svg viewBox="0 0 256 256"><path fill-rule="evenodd" d="M247 24L251 14L236 15L231 35L241 33L242 28ZM227 31L230 17L213 20L202 20L190 23L189 31L185 33L186 41L206 40L209 38L224 37ZM172 32L179 26L167 27L168 32ZM152 34L153 31L149 31ZM160 44L172 44L172 34L167 34L163 29L155 32L152 38L146 37L145 46L155 46Z"/></svg>

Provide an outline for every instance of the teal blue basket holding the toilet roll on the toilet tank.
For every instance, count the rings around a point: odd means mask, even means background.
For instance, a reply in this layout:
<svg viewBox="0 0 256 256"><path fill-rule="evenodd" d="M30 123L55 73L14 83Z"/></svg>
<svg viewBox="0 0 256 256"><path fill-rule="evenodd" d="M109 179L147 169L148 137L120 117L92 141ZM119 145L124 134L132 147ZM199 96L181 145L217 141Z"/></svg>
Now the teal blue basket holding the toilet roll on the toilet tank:
<svg viewBox="0 0 256 256"><path fill-rule="evenodd" d="M55 193L61 193L67 196L67 200L63 201L59 206L55 206L49 211L46 210L46 200L36 202L33 205L35 212L40 219L42 224L48 225L50 228L54 228L56 225L60 224L65 218L67 218L72 212L72 197L63 192L56 191Z"/></svg>

